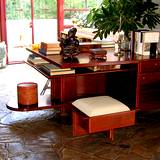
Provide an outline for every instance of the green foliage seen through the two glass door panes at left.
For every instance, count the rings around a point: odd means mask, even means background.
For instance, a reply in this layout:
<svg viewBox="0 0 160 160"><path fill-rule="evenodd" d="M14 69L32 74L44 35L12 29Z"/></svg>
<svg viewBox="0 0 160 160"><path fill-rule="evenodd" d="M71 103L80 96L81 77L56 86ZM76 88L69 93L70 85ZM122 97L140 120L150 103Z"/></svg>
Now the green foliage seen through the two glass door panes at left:
<svg viewBox="0 0 160 160"><path fill-rule="evenodd" d="M22 0L6 1L7 19L31 19L31 3ZM57 1L56 0L34 0L34 16L37 19L56 18Z"/></svg>

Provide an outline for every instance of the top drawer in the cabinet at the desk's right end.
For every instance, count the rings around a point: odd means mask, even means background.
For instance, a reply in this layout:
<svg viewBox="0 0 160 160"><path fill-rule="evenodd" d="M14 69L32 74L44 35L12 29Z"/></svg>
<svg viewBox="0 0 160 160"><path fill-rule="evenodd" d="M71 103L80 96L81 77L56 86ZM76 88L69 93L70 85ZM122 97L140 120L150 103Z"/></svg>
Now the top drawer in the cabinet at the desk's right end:
<svg viewBox="0 0 160 160"><path fill-rule="evenodd" d="M140 62L139 71L140 73L158 72L160 71L160 61L150 60L150 61Z"/></svg>

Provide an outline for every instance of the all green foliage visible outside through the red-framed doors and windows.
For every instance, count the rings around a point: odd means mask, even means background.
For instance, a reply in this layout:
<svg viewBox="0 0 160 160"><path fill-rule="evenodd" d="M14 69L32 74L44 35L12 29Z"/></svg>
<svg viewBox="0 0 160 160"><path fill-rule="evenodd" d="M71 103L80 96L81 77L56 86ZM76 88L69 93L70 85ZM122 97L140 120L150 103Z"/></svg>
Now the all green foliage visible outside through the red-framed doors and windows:
<svg viewBox="0 0 160 160"><path fill-rule="evenodd" d="M94 7L99 1L102 0L87 0L87 7ZM65 8L85 8L85 0L64 0L64 5ZM30 19L30 0L6 0L6 14L9 20ZM65 18L74 15L74 12L65 12ZM35 19L56 19L57 0L34 0L34 16Z"/></svg>

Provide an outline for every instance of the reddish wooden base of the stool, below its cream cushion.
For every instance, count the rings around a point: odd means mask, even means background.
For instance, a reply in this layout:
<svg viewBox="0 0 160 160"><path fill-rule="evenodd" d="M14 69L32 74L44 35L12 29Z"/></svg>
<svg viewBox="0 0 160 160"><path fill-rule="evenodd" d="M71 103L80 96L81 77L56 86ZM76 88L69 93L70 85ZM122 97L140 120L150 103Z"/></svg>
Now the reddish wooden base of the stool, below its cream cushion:
<svg viewBox="0 0 160 160"><path fill-rule="evenodd" d="M74 107L72 111L73 136L109 131L108 138L114 139L114 129L135 124L135 110L88 117Z"/></svg>

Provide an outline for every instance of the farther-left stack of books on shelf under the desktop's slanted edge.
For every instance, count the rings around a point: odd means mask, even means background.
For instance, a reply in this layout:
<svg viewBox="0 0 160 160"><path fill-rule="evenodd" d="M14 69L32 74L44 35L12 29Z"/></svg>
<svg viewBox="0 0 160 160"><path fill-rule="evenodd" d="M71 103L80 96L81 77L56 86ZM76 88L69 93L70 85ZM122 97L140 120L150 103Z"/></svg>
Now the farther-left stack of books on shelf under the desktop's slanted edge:
<svg viewBox="0 0 160 160"><path fill-rule="evenodd" d="M34 54L30 54L27 58L27 62L32 63L32 64L42 64L42 63L49 63L46 60L42 59L41 57L38 57Z"/></svg>

